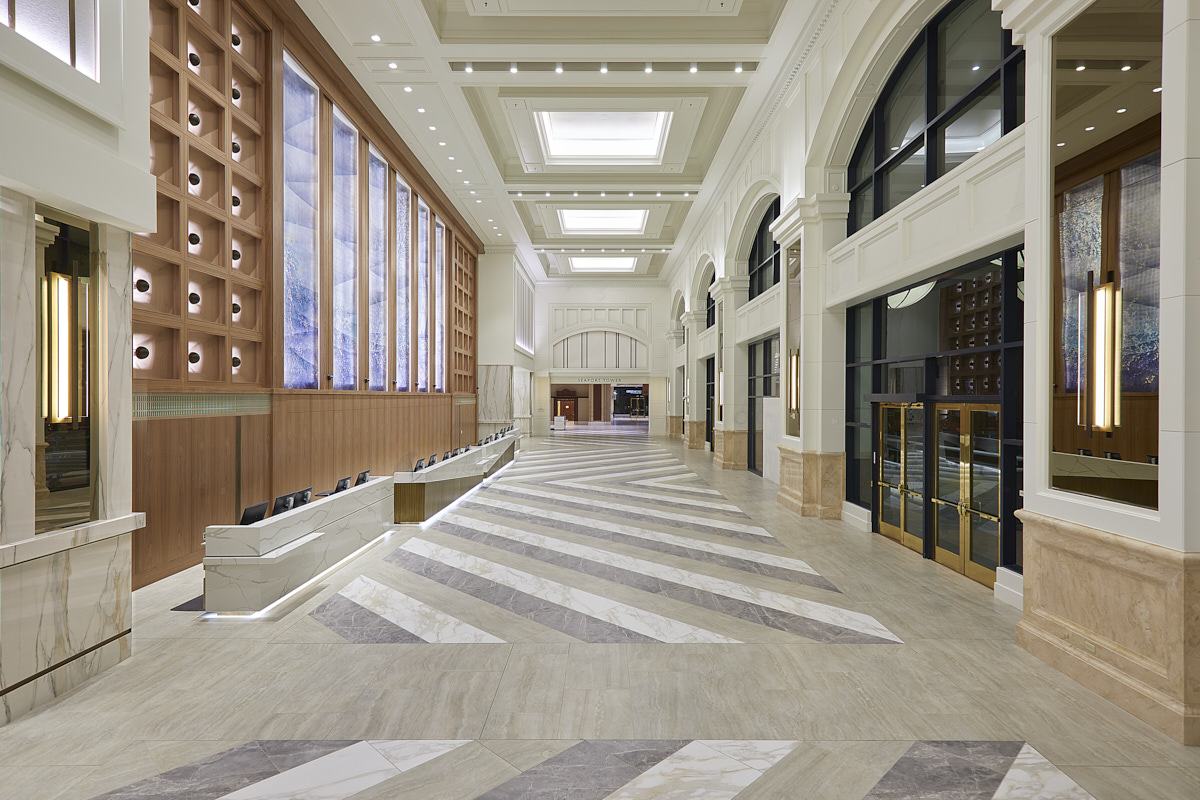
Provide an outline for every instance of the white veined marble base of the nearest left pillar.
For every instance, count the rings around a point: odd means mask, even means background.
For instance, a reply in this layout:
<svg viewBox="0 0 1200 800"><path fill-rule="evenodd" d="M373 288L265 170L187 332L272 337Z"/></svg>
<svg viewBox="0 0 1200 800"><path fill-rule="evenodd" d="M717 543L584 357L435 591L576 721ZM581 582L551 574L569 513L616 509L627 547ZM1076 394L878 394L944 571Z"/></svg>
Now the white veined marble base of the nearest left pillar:
<svg viewBox="0 0 1200 800"><path fill-rule="evenodd" d="M121 534L0 569L0 692L132 627L131 546ZM124 637L0 694L0 724L128 655Z"/></svg>

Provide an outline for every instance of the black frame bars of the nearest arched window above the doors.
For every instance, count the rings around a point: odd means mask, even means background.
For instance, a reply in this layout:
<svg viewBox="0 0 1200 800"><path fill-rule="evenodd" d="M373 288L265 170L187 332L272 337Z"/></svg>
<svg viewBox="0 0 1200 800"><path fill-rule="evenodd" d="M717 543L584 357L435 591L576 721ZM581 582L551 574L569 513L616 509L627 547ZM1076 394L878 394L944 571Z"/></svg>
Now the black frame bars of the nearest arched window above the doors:
<svg viewBox="0 0 1200 800"><path fill-rule="evenodd" d="M888 76L887 82L884 82L883 90L876 97L875 106L871 108L871 113L863 126L863 132L854 144L853 157L847 169L847 182L850 184L851 194L850 216L846 221L847 235L852 235L870 225L871 222L878 219L888 211L886 207L887 198L883 191L887 174L894 167L907 161L922 148L925 150L925 181L922 188L930 186L938 178L954 170L954 167L944 172L940 169L946 126L954 121L964 109L991 91L997 84L1000 85L1001 97L1001 136L1010 133L1025 122L1025 97L1024 94L1019 92L1022 83L1020 78L1025 64L1025 49L1019 44L1013 44L1013 34L1004 28L1001 28L998 31L1001 36L1000 64L994 70L982 73L974 86L953 102L947 103L944 110L938 110L937 108L938 89L943 74L938 64L938 28L961 6L972 1L974 0L954 0L937 12L929 24L913 38L904 58L900 59ZM914 59L919 58L922 49L924 49L925 58L925 125L919 134L899 150L884 152L884 148L887 148L884 138L882 136L872 137L872 133L884 130L883 113L887 102L892 97L892 92L895 90L905 71L912 65ZM862 163L864 155L868 155L864 152L868 144L872 145L874 152L869 154L866 169L860 175L858 174L857 164ZM863 224L859 225L859 217L863 216L863 209L859 207L859 204L864 201L864 198L870 198L871 209L863 217Z"/></svg>

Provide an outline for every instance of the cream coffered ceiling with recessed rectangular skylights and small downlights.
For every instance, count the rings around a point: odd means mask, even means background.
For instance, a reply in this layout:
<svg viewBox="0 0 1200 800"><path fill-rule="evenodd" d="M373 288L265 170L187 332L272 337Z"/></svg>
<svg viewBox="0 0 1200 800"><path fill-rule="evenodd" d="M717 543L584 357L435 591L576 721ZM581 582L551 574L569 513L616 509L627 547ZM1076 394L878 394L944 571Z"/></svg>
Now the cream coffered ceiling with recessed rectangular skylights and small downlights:
<svg viewBox="0 0 1200 800"><path fill-rule="evenodd" d="M833 0L299 0L485 245L655 279Z"/></svg>

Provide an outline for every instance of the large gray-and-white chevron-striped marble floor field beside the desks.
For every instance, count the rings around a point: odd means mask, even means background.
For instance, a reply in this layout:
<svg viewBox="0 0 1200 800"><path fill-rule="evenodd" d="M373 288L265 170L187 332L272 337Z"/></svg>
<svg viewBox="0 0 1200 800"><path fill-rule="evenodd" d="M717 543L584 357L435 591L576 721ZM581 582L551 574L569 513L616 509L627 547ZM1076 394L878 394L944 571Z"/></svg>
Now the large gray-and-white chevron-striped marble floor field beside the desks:
<svg viewBox="0 0 1200 800"><path fill-rule="evenodd" d="M634 432L551 439L385 561L312 616L356 643L900 643Z"/></svg>

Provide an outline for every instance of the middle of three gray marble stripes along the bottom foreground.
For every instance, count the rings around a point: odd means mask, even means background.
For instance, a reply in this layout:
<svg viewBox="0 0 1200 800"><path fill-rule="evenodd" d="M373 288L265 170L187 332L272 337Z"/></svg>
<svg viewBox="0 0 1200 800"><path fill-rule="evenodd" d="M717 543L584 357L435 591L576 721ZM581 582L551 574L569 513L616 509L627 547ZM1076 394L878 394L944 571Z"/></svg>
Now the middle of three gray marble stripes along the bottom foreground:
<svg viewBox="0 0 1200 800"><path fill-rule="evenodd" d="M475 800L602 800L688 744L581 741Z"/></svg>

